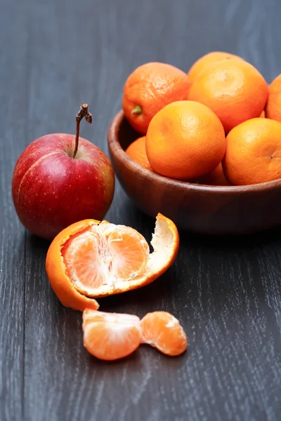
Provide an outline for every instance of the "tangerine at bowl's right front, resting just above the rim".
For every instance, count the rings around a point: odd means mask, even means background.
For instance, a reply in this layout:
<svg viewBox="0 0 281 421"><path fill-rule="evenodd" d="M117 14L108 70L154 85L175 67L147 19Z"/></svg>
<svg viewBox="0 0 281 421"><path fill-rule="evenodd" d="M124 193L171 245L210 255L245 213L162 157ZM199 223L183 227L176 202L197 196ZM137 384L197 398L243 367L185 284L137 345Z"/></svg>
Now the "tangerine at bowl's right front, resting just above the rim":
<svg viewBox="0 0 281 421"><path fill-rule="evenodd" d="M251 185L281 178L281 123L251 119L226 138L223 170L233 185Z"/></svg>

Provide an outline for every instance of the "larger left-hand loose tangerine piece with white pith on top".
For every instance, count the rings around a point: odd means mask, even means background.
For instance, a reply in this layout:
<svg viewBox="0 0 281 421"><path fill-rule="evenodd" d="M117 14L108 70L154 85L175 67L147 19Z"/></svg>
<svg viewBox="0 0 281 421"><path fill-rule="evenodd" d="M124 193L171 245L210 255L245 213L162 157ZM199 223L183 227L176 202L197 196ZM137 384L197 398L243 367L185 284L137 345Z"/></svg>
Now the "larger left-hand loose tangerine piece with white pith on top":
<svg viewBox="0 0 281 421"><path fill-rule="evenodd" d="M98 359L113 361L134 352L141 344L141 323L137 316L83 312L84 347Z"/></svg>

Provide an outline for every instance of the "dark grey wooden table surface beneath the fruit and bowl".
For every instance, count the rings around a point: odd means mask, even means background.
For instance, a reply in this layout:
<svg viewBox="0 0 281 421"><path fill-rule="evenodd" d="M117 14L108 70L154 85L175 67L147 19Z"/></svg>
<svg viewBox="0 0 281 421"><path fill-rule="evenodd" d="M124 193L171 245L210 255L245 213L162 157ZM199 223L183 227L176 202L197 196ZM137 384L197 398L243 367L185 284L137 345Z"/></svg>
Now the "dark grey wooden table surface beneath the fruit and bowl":
<svg viewBox="0 0 281 421"><path fill-rule="evenodd" d="M143 62L188 70L208 51L230 51L271 81L281 72L280 15L278 0L1 0L1 421L281 419L280 229L182 232L164 276L100 309L172 312L188 353L142 347L105 363L82 346L81 313L60 305L46 278L48 243L25 232L11 201L22 150L46 133L74 133L81 102L94 121L81 134L107 153L122 86ZM154 226L118 183L107 219L148 240Z"/></svg>

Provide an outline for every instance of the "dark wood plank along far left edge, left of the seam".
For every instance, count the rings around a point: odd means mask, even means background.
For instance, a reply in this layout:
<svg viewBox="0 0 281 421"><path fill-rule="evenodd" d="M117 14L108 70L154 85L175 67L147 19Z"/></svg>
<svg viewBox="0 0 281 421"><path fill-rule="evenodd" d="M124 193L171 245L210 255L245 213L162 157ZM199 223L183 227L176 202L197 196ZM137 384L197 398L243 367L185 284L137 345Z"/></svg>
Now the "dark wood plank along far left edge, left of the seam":
<svg viewBox="0 0 281 421"><path fill-rule="evenodd" d="M13 26L6 25L9 21L13 21ZM4 29L0 59L0 419L20 420L25 340L25 230L11 200L13 165L20 149L25 147L27 136L29 53L20 4L18 8L10 3L1 5L0 27ZM9 48L7 44L4 46L7 39Z"/></svg>

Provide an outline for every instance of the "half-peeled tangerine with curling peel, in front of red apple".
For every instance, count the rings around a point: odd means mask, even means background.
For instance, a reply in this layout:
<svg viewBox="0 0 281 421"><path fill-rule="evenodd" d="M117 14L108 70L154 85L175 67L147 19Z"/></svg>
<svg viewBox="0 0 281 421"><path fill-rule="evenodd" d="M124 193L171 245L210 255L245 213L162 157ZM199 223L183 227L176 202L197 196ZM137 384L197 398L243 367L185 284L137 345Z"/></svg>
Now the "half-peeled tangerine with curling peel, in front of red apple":
<svg viewBox="0 0 281 421"><path fill-rule="evenodd" d="M178 253L174 222L158 213L150 249L131 227L83 220L63 229L48 249L46 272L60 302L83 311L98 309L94 298L148 285Z"/></svg>

